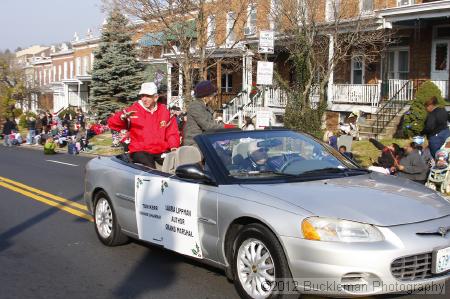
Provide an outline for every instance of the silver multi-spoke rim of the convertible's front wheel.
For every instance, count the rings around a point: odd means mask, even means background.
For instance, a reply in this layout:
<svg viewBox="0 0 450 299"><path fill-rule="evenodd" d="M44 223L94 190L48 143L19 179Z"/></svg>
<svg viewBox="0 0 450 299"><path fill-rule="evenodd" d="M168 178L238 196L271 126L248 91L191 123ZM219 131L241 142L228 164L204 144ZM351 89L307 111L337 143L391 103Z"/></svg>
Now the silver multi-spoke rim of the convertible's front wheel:
<svg viewBox="0 0 450 299"><path fill-rule="evenodd" d="M275 286L275 265L267 247L257 239L245 240L238 249L239 282L252 298L266 298Z"/></svg>

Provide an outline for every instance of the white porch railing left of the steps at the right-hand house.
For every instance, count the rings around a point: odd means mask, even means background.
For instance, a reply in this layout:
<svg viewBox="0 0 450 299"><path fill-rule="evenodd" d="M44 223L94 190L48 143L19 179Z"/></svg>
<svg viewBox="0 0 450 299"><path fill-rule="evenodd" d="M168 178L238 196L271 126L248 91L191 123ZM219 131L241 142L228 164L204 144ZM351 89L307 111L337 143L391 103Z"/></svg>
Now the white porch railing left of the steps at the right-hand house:
<svg viewBox="0 0 450 299"><path fill-rule="evenodd" d="M334 84L333 103L377 106L380 100L378 84Z"/></svg>

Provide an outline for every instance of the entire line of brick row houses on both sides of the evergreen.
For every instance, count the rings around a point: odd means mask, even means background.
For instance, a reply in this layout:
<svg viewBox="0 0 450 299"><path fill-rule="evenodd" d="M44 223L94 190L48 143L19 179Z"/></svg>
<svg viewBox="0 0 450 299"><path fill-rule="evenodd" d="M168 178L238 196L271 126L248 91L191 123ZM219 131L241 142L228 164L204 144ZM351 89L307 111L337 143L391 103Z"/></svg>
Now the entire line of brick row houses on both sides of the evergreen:
<svg viewBox="0 0 450 299"><path fill-rule="evenodd" d="M298 1L301 4L309 0ZM200 66L197 70L194 67L192 86L188 90L183 84L182 67L176 63L175 56L180 53L175 38L161 38L165 33L157 20L134 22L134 40L142 53L140 59L147 64L146 80L163 82L168 104L180 106L196 82L202 78L214 81L218 88L215 108L223 112L226 121L242 121L244 114L254 115L262 108L282 114L285 97L276 86L266 88L256 99L250 97L250 92L256 82L257 60L262 59L257 53L261 30L275 32L275 54L268 55L267 59L275 63L283 78L295 79L290 78L288 55L278 50L285 39L277 34L278 21L271 14L283 3L286 2L230 0L227 7L211 7L209 13L206 11L206 36L203 37L198 34L198 21L186 19L193 24L192 30L188 30L192 34L192 50L195 52L203 43L207 53L206 68L200 73ZM389 46L375 61L368 62L363 53L354 51L336 66L327 86L328 114L335 123L354 110L376 114L382 103L394 96L409 101L425 80L432 80L443 96L449 98L450 0L316 0L314 3L319 7L314 16L318 22L332 22L335 13L341 13L350 23L355 17L372 20L373 26L367 30L393 34ZM356 7L355 11L339 12L348 3ZM162 39L169 43L161 42ZM75 36L71 44L47 49L32 58L28 66L32 66L34 84L40 88L40 99L45 104L42 107L52 111L69 105L86 109L92 52L99 41L90 33L84 39ZM193 62L194 66L197 64Z"/></svg>

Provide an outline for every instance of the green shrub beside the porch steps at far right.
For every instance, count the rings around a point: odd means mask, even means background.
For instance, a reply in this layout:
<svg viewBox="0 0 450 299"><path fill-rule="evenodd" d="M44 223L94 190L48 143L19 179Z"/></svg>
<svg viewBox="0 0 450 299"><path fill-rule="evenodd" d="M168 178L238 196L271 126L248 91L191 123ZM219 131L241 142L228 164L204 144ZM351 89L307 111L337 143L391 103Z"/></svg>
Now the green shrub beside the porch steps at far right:
<svg viewBox="0 0 450 299"><path fill-rule="evenodd" d="M425 110L424 104L433 96L438 99L439 106L445 105L441 91L433 82L426 81L420 85L409 111L405 114L403 129L407 136L420 135L423 131L425 119L427 118L427 111Z"/></svg>

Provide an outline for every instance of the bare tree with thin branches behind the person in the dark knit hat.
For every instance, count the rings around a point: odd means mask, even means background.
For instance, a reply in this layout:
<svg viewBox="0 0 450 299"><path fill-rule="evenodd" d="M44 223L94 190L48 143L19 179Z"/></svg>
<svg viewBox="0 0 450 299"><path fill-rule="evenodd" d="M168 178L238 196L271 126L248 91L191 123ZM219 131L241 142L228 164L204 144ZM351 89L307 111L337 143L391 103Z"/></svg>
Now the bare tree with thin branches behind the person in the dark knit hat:
<svg viewBox="0 0 450 299"><path fill-rule="evenodd" d="M155 44L166 53L168 61L183 73L185 100L197 72L207 78L208 70L242 48L243 27L247 19L249 0L114 0L107 1L123 13L144 24L143 32L153 33ZM224 28L225 30L220 30ZM241 30L242 31L242 30ZM220 51L220 55L219 55Z"/></svg>

